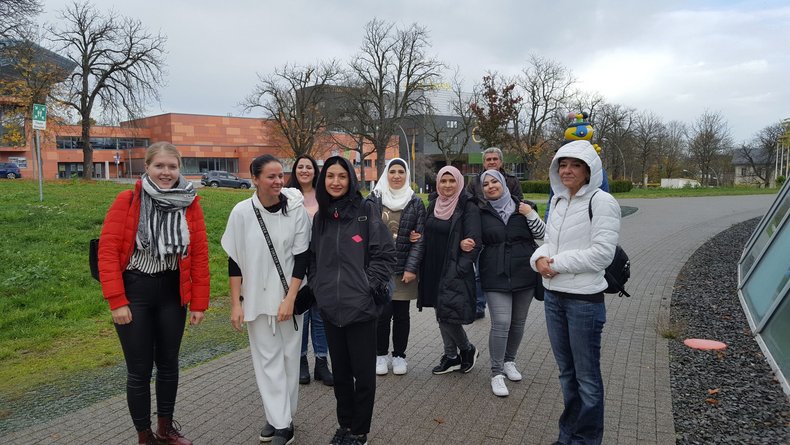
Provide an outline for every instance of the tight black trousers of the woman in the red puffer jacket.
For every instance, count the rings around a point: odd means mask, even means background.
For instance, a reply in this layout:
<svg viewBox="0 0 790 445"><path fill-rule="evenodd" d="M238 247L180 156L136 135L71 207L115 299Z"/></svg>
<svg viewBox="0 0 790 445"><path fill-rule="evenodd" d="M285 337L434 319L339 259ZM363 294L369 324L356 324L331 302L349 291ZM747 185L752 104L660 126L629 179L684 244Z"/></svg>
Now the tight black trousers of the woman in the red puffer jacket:
<svg viewBox="0 0 790 445"><path fill-rule="evenodd" d="M151 372L156 363L156 406L171 417L178 392L178 352L186 322L178 271L123 274L132 322L115 325L126 359L126 402L137 431L151 427Z"/></svg>

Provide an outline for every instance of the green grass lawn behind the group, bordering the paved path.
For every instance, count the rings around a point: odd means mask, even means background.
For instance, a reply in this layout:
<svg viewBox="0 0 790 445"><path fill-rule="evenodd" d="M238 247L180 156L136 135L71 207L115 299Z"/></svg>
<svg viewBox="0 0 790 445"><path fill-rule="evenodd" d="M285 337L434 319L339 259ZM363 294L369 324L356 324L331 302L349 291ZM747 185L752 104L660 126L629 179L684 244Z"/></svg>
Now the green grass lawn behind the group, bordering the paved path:
<svg viewBox="0 0 790 445"><path fill-rule="evenodd" d="M88 269L88 241L107 208L130 185L0 181L0 394L13 398L70 374L123 361L108 306ZM759 189L635 190L618 198L775 193ZM249 191L201 188L209 235L211 308L189 328L184 350L228 351L247 343L228 322L227 257L220 247L228 214ZM545 209L545 195L525 198ZM423 199L426 197L423 195ZM213 349L212 349L213 348ZM210 354L208 354L210 355ZM210 357L207 357L210 358Z"/></svg>

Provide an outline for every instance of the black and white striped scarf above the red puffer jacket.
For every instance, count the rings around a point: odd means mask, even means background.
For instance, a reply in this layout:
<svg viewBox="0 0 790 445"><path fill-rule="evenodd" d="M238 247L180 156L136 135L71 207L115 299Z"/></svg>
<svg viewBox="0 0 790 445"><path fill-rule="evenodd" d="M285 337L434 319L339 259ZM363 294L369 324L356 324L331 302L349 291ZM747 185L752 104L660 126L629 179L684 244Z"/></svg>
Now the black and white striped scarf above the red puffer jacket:
<svg viewBox="0 0 790 445"><path fill-rule="evenodd" d="M178 184L161 189L148 174L143 174L140 195L140 220L137 225L137 248L165 261L165 255L186 255L189 246L186 208L195 200L195 188L180 176Z"/></svg>

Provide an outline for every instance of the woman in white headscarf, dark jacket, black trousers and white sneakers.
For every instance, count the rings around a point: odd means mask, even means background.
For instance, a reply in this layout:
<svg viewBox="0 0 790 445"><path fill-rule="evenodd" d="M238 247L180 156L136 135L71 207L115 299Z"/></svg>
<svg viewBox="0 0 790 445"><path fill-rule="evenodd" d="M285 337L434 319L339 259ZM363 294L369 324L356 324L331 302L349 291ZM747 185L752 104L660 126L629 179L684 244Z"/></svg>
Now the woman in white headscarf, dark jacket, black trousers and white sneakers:
<svg viewBox="0 0 790 445"><path fill-rule="evenodd" d="M392 372L407 372L406 346L409 341L410 301L417 298L417 270L422 261L423 242L410 242L413 233L422 233L425 225L425 206L409 184L406 161L395 158L387 162L379 182L368 195L376 204L381 219L387 225L395 243L396 265L392 275L392 301L382 308L376 333L376 374L385 375L392 364ZM392 326L392 358L388 357Z"/></svg>

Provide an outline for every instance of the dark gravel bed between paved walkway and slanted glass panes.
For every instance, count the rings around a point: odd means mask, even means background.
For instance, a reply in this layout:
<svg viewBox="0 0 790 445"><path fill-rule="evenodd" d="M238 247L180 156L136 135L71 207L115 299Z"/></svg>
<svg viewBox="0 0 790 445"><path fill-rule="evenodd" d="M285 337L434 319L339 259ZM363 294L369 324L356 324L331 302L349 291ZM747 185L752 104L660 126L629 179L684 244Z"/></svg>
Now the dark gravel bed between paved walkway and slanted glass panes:
<svg viewBox="0 0 790 445"><path fill-rule="evenodd" d="M754 340L737 293L736 267L759 219L732 226L683 266L671 320L685 327L669 342L678 444L790 443L790 402ZM686 347L686 338L727 344L721 352Z"/></svg>

